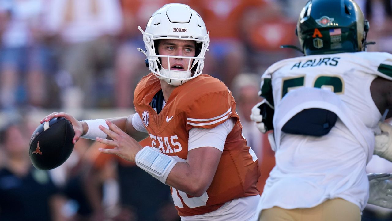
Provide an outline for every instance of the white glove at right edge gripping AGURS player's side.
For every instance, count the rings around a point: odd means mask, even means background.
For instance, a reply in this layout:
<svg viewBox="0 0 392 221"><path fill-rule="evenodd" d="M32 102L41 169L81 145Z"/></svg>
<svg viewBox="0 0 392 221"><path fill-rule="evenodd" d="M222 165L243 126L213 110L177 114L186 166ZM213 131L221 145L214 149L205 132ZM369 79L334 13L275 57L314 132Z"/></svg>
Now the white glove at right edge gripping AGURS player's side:
<svg viewBox="0 0 392 221"><path fill-rule="evenodd" d="M392 162L392 125L379 122L381 133L375 135L374 154Z"/></svg>

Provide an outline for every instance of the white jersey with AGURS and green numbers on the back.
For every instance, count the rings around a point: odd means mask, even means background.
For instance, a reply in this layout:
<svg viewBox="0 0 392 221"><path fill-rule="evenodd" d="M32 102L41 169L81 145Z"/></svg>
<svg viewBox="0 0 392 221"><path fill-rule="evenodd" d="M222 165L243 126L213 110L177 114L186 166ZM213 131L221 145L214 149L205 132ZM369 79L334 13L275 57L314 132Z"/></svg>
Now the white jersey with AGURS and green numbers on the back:
<svg viewBox="0 0 392 221"><path fill-rule="evenodd" d="M381 119L370 93L376 77L392 80L392 55L311 55L279 61L265 71L261 95L275 107L276 166L261 195L262 209L310 208L339 197L363 210L369 188L365 166ZM291 117L308 108L338 115L328 134L281 131Z"/></svg>

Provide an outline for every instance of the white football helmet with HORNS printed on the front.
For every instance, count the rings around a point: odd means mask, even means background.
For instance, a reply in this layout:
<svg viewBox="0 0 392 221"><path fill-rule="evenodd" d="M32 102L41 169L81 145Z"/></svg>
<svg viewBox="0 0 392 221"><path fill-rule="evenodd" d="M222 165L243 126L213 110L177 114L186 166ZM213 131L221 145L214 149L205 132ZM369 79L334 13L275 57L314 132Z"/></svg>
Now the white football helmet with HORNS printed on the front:
<svg viewBox="0 0 392 221"><path fill-rule="evenodd" d="M138 48L146 56L149 69L156 77L168 84L178 86L201 75L204 66L204 55L208 51L209 37L200 15L185 4L166 4L152 14L143 34L146 51ZM162 39L180 39L196 41L195 57L158 55L156 43ZM186 71L171 70L169 58L189 59ZM167 59L169 69L163 69L161 59Z"/></svg>

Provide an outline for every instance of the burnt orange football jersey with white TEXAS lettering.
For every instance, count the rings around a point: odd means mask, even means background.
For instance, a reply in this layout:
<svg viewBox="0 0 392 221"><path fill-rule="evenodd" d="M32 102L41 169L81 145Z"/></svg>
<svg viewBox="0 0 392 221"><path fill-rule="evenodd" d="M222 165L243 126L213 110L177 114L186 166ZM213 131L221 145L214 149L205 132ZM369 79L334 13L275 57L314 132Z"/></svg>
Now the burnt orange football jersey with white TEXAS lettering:
<svg viewBox="0 0 392 221"><path fill-rule="evenodd" d="M256 155L241 135L236 102L225 84L209 75L200 75L176 87L157 114L150 104L160 90L160 80L152 73L143 77L135 89L134 106L147 128L151 146L166 155L186 160L191 128L214 128L229 118L235 119L207 191L201 197L193 197L171 188L178 214L205 214L232 199L259 194L256 183L260 170Z"/></svg>

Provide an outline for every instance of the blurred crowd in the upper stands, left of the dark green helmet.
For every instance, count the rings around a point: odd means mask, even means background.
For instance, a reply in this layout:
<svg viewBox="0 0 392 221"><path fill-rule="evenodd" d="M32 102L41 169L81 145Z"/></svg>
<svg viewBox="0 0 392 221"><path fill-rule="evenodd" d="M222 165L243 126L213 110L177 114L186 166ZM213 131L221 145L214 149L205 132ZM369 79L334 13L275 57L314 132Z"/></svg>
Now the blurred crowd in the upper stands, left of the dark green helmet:
<svg viewBox="0 0 392 221"><path fill-rule="evenodd" d="M136 50L144 48L138 26L170 2L0 0L1 110L132 107L134 87L149 72ZM202 16L211 37L204 73L228 86L243 71L293 55L279 49L296 42L298 12L283 11L287 1L176 2Z"/></svg>

